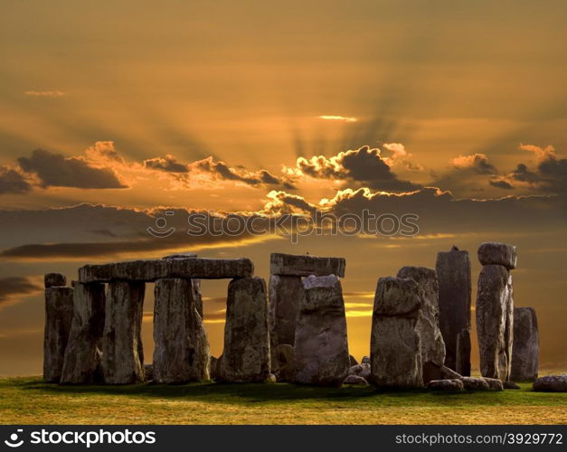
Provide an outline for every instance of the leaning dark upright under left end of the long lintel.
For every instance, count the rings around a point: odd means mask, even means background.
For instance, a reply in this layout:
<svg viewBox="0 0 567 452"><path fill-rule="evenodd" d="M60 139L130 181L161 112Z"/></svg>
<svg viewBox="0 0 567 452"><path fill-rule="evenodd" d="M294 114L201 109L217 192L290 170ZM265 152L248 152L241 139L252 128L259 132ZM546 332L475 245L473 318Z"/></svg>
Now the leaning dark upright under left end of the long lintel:
<svg viewBox="0 0 567 452"><path fill-rule="evenodd" d="M102 332L104 328L104 284L73 281L73 319L65 349L61 383L100 382Z"/></svg>

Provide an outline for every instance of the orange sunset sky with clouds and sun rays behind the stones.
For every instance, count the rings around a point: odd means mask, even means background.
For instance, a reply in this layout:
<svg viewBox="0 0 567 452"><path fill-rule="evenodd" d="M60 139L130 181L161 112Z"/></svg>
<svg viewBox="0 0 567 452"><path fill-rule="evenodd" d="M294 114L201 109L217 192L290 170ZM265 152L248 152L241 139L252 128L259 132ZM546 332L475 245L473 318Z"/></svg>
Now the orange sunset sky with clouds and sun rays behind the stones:
<svg viewBox="0 0 567 452"><path fill-rule="evenodd" d="M345 257L360 358L377 278L455 244L476 286L493 240L518 247L515 305L536 309L541 367L567 369L566 13L550 0L3 1L0 375L41 373L50 271L194 250L249 257L267 278L270 252ZM364 210L416 213L420 233L186 233L194 212ZM175 233L156 239L146 228L165 211ZM227 284L203 282L214 355Z"/></svg>

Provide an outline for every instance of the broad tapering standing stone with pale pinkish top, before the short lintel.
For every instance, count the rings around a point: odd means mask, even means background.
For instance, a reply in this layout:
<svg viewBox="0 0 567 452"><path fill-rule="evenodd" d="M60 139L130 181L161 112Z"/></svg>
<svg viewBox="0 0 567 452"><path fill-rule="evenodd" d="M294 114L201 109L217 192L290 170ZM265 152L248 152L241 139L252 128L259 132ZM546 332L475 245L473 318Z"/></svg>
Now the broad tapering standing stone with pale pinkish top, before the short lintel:
<svg viewBox="0 0 567 452"><path fill-rule="evenodd" d="M295 338L295 381L339 386L348 372L345 301L335 275L303 280Z"/></svg>

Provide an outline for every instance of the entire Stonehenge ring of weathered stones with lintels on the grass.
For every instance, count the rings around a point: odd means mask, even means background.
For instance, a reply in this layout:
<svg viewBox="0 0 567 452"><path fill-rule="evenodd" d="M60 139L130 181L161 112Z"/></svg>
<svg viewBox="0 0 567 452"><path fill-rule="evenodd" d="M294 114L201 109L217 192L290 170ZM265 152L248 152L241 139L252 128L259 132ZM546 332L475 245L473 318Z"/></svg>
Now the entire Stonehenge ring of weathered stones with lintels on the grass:
<svg viewBox="0 0 567 452"><path fill-rule="evenodd" d="M537 379L538 327L531 307L514 308L511 245L478 249L477 341L482 377L470 377L470 260L453 247L435 268L402 267L378 278L370 356L349 354L340 278L345 259L274 253L269 288L250 259L176 253L79 268L67 287L45 285L43 379L61 384L153 381L294 382L383 389L503 391L534 381L564 391L564 376ZM201 279L226 278L224 345L211 356ZM155 283L152 363L145 363L146 284ZM206 299L206 298L205 298Z"/></svg>

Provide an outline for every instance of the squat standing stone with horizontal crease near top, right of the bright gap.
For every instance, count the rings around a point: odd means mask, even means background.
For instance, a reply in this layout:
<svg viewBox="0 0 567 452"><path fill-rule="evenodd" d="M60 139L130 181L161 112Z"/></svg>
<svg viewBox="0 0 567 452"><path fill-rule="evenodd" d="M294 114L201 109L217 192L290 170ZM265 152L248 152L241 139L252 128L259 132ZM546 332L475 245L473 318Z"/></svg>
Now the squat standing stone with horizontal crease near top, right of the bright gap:
<svg viewBox="0 0 567 452"><path fill-rule="evenodd" d="M383 388L421 388L422 300L413 279L380 278L374 297L370 340L371 381Z"/></svg>

